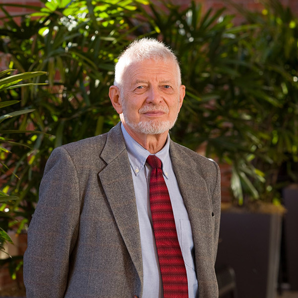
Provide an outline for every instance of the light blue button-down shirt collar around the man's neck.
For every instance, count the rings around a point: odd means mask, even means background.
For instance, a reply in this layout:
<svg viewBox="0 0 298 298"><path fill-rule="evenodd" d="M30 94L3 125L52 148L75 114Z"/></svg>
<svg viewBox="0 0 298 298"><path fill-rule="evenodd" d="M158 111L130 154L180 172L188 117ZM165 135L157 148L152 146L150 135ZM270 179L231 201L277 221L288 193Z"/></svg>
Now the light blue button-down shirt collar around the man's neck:
<svg viewBox="0 0 298 298"><path fill-rule="evenodd" d="M140 171L143 169L147 157L151 154L147 149L142 147L131 135L126 131L121 123L121 130L124 137L126 149L128 152L128 157L130 165L136 176L139 175ZM159 150L156 155L162 162L163 175L168 178L169 166L170 166L170 136L167 135L166 143L164 147Z"/></svg>

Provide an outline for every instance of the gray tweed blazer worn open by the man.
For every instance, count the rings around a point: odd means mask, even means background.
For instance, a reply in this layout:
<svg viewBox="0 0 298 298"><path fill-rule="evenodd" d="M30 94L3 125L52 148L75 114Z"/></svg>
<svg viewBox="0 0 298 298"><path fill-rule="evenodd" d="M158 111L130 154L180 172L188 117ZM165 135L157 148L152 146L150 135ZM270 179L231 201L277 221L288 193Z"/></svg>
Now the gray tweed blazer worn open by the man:
<svg viewBox="0 0 298 298"><path fill-rule="evenodd" d="M192 226L199 297L217 298L219 167L172 141L170 156ZM141 298L138 212L120 125L53 150L39 195L24 255L27 298Z"/></svg>

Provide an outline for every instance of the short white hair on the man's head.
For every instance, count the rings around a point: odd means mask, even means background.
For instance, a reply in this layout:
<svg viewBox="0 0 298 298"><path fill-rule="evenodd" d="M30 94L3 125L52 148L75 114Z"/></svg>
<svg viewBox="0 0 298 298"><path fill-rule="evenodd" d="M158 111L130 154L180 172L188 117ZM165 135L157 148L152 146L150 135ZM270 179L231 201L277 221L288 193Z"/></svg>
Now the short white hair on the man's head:
<svg viewBox="0 0 298 298"><path fill-rule="evenodd" d="M135 40L119 56L115 65L114 85L120 88L123 86L123 75L131 63L148 59L160 59L164 62L173 61L177 68L178 83L181 85L181 72L177 57L169 47L154 38Z"/></svg>

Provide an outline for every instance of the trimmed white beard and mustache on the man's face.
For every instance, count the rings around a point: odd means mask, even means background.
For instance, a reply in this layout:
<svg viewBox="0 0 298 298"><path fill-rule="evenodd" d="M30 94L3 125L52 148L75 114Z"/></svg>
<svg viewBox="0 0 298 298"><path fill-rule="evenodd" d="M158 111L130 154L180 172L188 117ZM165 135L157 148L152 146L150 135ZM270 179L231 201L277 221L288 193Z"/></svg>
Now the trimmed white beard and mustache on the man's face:
<svg viewBox="0 0 298 298"><path fill-rule="evenodd" d="M145 135L159 135L169 131L174 126L178 118L178 112L177 112L177 116L174 119L174 121L169 121L169 120L160 121L156 119L156 120L149 120L149 121L130 122L126 116L127 115L126 104L124 104L122 108L123 108L122 115L125 123L135 132L145 134ZM139 113L142 114L153 110L161 110L165 113L169 112L167 107L158 106L158 105L149 105L141 108L139 110ZM178 107L177 107L177 111L178 111Z"/></svg>

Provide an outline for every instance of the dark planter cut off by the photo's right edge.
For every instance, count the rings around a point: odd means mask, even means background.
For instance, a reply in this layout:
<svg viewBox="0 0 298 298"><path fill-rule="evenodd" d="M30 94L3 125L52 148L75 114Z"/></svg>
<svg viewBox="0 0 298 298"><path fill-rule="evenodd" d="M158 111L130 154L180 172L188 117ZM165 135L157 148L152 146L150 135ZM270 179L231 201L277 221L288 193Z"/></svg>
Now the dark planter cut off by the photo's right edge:
<svg viewBox="0 0 298 298"><path fill-rule="evenodd" d="M292 185L283 191L287 209L284 221L287 276L291 290L298 290L298 185Z"/></svg>

